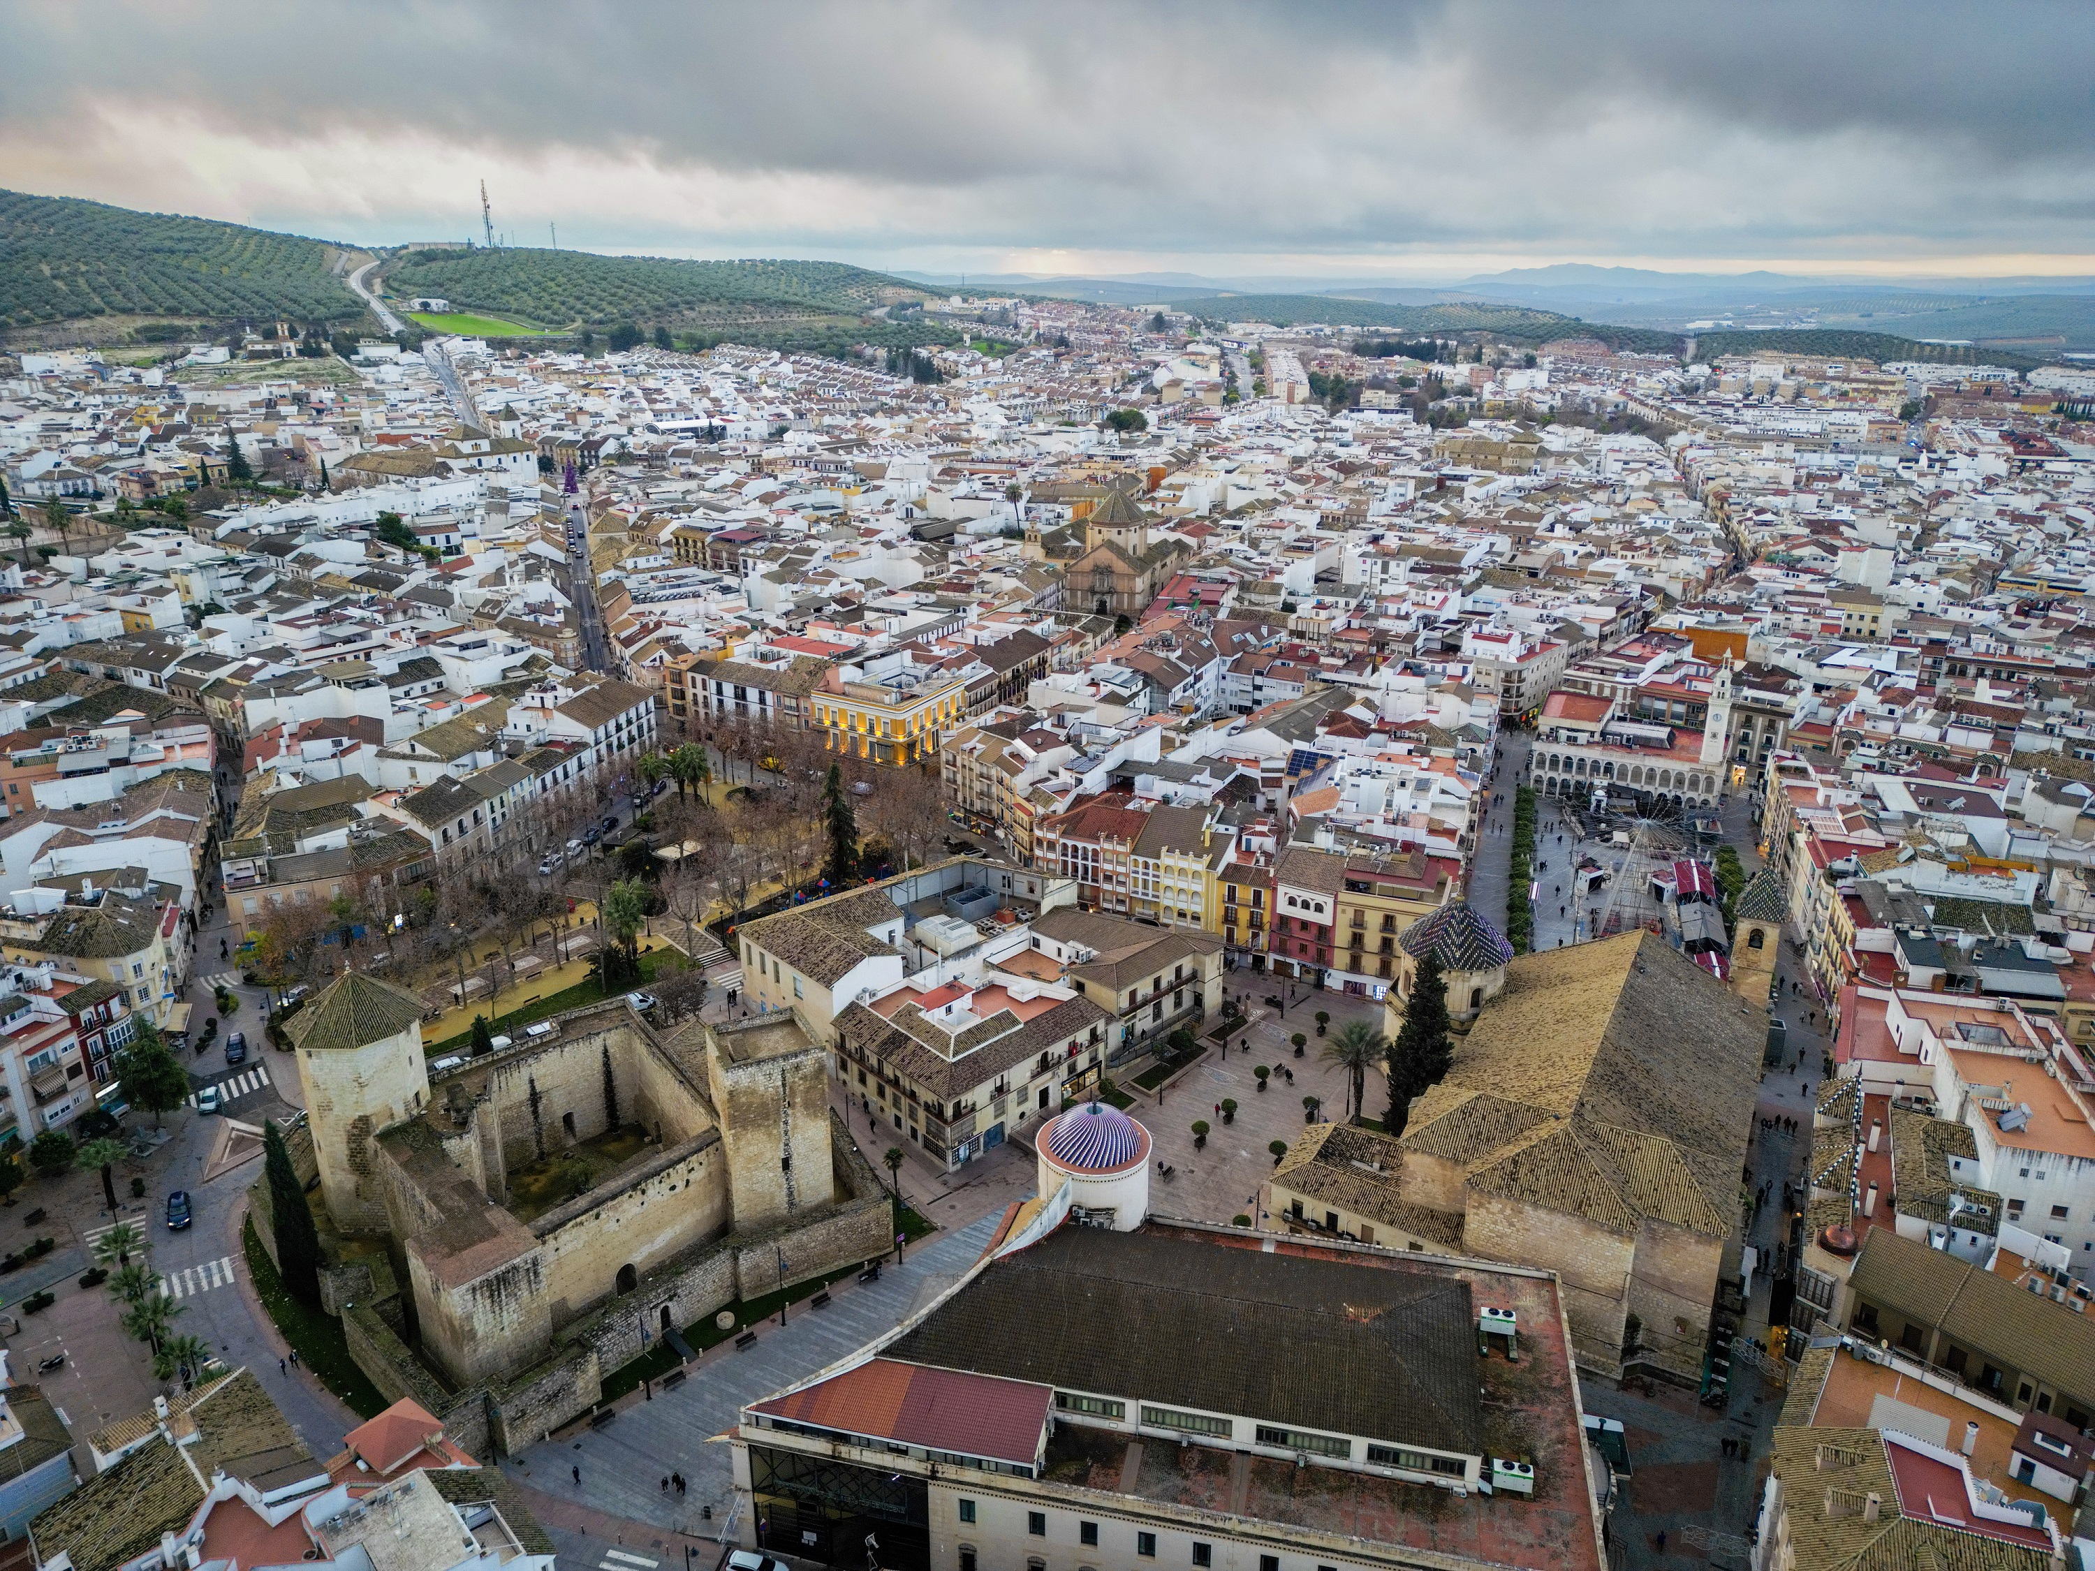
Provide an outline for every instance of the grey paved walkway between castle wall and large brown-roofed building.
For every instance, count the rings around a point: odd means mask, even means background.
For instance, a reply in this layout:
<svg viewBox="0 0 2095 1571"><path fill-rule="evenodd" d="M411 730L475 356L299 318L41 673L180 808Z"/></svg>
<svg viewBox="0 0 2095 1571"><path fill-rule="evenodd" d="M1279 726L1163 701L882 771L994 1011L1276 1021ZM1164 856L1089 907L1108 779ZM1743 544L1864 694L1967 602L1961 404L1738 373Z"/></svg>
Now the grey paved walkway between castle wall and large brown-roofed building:
<svg viewBox="0 0 2095 1571"><path fill-rule="evenodd" d="M541 1441L503 1466L536 1496L572 1508L547 1510L547 1531L570 1565L597 1565L616 1544L660 1544L666 1558L681 1565L679 1537L719 1540L727 1525L735 1485L727 1443L719 1437L744 1403L899 1326L974 1263L995 1227L997 1217L983 1217L957 1234L926 1240L907 1261L888 1265L878 1282L840 1286L825 1309L800 1303L786 1311L784 1328L777 1320L767 1322L750 1351L737 1353L733 1343L708 1349L677 1391L658 1391L654 1401L620 1410L603 1429ZM660 1479L668 1473L685 1477L687 1493L662 1491Z"/></svg>

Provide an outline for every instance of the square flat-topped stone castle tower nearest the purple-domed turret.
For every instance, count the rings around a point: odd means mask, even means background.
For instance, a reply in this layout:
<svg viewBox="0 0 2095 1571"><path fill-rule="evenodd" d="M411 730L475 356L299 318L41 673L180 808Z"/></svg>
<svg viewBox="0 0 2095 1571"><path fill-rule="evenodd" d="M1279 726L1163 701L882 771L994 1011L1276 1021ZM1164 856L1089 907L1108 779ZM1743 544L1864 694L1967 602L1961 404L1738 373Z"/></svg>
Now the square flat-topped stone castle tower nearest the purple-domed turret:
<svg viewBox="0 0 2095 1571"><path fill-rule="evenodd" d="M731 1225L750 1234L836 1198L830 1064L796 1010L706 1026ZM786 1263L786 1280L792 1263Z"/></svg>

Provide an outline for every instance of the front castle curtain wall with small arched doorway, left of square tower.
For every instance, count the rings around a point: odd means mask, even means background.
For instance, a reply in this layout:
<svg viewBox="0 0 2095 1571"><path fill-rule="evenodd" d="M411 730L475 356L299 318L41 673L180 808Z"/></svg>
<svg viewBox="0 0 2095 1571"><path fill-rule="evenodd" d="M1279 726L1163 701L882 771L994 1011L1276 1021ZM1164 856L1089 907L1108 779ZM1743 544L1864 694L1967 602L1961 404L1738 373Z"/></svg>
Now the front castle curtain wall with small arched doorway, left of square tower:
<svg viewBox="0 0 2095 1571"><path fill-rule="evenodd" d="M610 1299L622 1267L647 1276L725 1230L727 1163L714 1131L662 1152L620 1188L555 1207L532 1223L553 1324L566 1326Z"/></svg>

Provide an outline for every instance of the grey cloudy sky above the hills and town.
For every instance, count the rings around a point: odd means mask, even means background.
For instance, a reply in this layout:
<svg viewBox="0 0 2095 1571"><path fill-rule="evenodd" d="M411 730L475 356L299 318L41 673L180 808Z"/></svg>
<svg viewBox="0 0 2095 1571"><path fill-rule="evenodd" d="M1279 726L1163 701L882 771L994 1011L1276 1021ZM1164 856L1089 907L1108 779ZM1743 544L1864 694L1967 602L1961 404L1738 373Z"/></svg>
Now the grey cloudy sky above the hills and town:
<svg viewBox="0 0 2095 1571"><path fill-rule="evenodd" d="M928 270L2095 272L2089 4L0 6L0 184Z"/></svg>

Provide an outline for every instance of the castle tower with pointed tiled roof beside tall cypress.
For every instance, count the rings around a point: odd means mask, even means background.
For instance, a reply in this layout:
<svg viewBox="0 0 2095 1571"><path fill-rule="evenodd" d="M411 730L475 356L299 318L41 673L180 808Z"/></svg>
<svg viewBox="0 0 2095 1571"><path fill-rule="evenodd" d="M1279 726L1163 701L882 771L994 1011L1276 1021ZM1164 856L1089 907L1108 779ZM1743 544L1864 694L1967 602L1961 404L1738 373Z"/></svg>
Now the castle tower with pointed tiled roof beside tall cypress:
<svg viewBox="0 0 2095 1571"><path fill-rule="evenodd" d="M421 999L350 972L293 1014L285 1033L297 1049L327 1211L346 1234L383 1232L388 1217L371 1181L371 1139L429 1100Z"/></svg>

